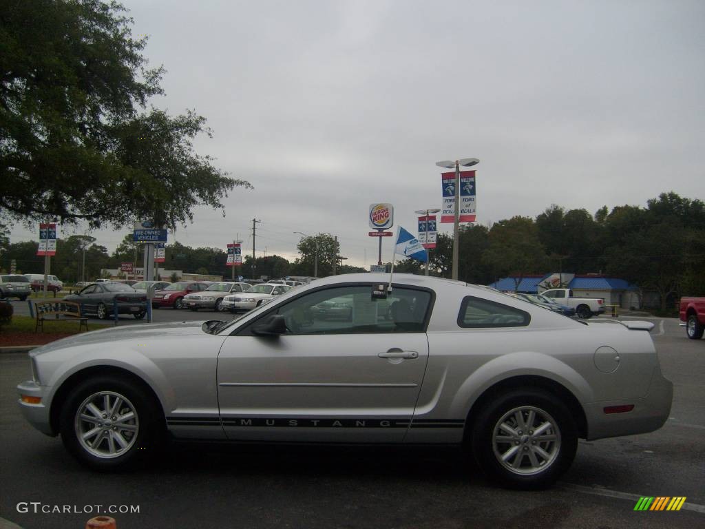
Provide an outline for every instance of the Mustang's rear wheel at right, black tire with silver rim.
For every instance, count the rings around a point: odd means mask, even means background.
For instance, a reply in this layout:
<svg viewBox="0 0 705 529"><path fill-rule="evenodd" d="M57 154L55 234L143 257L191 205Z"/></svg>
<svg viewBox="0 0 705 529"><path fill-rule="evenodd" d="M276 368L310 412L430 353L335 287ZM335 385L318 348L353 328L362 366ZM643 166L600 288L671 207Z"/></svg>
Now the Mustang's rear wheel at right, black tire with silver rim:
<svg viewBox="0 0 705 529"><path fill-rule="evenodd" d="M517 411L523 421L531 420L531 424L524 422L522 425L515 420ZM534 413L533 419L530 412ZM546 423L550 427L546 428ZM512 424L515 434L503 429ZM497 396L482 407L470 427L470 448L475 461L491 481L502 487L520 490L549 487L575 458L575 420L556 396L540 389L513 389ZM546 429L534 434L534 427ZM495 434L500 431L503 432L501 438L506 440L495 442ZM555 440L551 441L551 437ZM548 457L539 454L539 450ZM501 461L503 456L507 461Z"/></svg>

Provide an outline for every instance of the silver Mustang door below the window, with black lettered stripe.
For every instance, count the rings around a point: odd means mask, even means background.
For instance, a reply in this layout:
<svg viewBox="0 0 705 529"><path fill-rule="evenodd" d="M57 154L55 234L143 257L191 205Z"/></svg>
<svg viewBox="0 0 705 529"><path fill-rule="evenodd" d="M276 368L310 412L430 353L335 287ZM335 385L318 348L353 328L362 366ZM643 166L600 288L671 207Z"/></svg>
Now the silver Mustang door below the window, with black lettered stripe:
<svg viewBox="0 0 705 529"><path fill-rule="evenodd" d="M400 442L427 360L422 332L229 336L218 360L226 434L250 440Z"/></svg>

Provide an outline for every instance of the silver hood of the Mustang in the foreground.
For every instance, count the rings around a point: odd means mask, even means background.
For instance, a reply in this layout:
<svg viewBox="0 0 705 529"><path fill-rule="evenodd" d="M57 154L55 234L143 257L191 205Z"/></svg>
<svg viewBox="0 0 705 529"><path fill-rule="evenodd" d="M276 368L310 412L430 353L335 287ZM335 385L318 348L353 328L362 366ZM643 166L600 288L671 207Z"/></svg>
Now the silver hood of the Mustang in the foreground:
<svg viewBox="0 0 705 529"><path fill-rule="evenodd" d="M201 328L203 322L172 322L158 324L136 324L125 327L109 327L99 331L90 331L82 334L68 336L61 340L52 341L47 345L32 349L30 356L41 355L56 349L63 349L89 344L105 343L119 340L135 340L142 338L159 338L164 336L187 336L190 334L204 334Z"/></svg>

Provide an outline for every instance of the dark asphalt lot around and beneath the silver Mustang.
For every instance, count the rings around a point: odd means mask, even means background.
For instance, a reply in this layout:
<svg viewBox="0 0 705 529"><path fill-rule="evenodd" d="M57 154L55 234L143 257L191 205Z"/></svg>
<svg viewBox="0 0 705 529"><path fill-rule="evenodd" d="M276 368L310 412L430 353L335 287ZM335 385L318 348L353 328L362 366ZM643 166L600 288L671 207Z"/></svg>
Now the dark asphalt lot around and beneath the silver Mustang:
<svg viewBox="0 0 705 529"><path fill-rule="evenodd" d="M14 387L29 364L0 355L0 516L28 529L78 529L96 515L18 512L19 502L38 501L73 511L139 506L113 515L120 529L704 527L705 340L686 339L677 320L655 322L663 372L675 383L666 426L581 442L572 468L544 492L491 487L455 451L438 449L180 445L154 468L92 473L20 417ZM687 509L635 512L642 495L686 496Z"/></svg>

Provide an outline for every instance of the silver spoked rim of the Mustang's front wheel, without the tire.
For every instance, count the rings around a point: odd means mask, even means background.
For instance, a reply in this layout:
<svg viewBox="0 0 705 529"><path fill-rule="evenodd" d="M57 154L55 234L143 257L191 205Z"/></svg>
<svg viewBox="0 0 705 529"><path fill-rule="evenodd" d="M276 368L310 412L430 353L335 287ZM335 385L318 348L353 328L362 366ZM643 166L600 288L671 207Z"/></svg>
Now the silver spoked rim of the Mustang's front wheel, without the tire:
<svg viewBox="0 0 705 529"><path fill-rule="evenodd" d="M80 445L99 458L121 456L132 448L140 430L135 406L114 391L99 391L83 401L74 429Z"/></svg>

